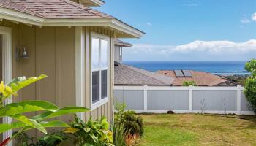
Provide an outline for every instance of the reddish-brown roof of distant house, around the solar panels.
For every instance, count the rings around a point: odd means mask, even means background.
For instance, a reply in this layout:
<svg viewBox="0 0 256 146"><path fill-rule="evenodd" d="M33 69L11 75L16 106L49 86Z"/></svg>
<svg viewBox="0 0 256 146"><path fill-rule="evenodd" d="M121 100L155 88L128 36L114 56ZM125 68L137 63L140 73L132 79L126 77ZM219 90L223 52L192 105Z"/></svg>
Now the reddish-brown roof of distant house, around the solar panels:
<svg viewBox="0 0 256 146"><path fill-rule="evenodd" d="M192 77L176 77L176 73L173 70L160 70L157 74L163 74L168 77L173 77L174 81L172 85L182 86L184 82L195 81L198 86L217 86L224 82L229 82L225 77L220 77L218 75L210 74L207 72L197 72L190 70Z"/></svg>

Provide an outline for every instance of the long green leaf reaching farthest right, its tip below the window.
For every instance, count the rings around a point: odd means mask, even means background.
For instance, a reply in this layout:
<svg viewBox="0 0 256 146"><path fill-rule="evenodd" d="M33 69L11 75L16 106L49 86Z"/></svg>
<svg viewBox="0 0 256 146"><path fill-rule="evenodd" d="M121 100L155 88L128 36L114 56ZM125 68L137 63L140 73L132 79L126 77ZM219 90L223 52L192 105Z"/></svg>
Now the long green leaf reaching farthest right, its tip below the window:
<svg viewBox="0 0 256 146"><path fill-rule="evenodd" d="M55 117L60 117L62 115L69 115L69 114L75 114L77 112L87 112L89 109L86 107L64 107L59 110L56 110L55 112L44 112L40 115L34 116L33 119L35 120L45 120L48 118L55 118Z"/></svg>

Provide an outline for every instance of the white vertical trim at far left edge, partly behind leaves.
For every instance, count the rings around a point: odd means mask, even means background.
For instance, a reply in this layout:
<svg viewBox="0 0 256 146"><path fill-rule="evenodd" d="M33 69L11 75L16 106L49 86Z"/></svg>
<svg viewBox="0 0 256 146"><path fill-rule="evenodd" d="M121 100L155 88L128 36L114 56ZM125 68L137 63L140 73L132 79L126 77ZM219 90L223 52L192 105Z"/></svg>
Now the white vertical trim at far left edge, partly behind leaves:
<svg viewBox="0 0 256 146"><path fill-rule="evenodd" d="M12 28L0 26L0 35L2 35L2 75L4 82L10 82L12 80ZM12 103L12 98L7 99L4 104ZM3 118L3 123L12 123L12 118ZM7 139L12 136L12 130L4 132L3 139ZM10 142L8 145L12 145Z"/></svg>

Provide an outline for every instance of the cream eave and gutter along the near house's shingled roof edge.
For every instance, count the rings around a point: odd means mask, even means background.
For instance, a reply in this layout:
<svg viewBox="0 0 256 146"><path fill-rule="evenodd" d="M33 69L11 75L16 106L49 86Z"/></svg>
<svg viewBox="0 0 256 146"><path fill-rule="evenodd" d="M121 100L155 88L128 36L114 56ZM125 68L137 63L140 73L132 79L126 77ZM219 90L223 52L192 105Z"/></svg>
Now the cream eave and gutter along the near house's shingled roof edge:
<svg viewBox="0 0 256 146"><path fill-rule="evenodd" d="M34 26L102 26L116 31L117 38L140 38L145 34L116 18L41 18L0 7L0 18Z"/></svg>

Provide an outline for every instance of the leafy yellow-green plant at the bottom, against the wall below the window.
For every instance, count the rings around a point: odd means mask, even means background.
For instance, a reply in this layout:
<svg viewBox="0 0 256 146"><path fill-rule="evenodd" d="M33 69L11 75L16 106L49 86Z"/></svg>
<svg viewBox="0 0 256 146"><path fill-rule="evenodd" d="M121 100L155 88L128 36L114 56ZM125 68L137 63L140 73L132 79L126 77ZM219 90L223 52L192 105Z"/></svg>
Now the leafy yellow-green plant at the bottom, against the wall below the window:
<svg viewBox="0 0 256 146"><path fill-rule="evenodd" d="M83 122L75 115L75 121L65 131L75 136L75 144L80 146L113 146L113 134L109 130L107 118Z"/></svg>

